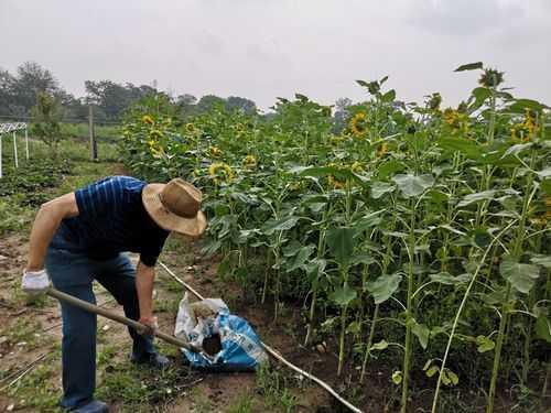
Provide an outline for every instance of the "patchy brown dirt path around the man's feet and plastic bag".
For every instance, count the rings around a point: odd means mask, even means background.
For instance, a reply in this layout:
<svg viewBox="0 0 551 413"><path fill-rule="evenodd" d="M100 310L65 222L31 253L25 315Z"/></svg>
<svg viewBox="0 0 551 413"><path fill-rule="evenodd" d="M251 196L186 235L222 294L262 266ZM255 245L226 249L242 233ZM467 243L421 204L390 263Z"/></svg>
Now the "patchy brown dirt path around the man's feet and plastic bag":
<svg viewBox="0 0 551 413"><path fill-rule="evenodd" d="M23 378L0 392L0 411L50 412L56 411L55 401L61 394L60 311L57 303L50 297L28 302L20 292L20 273L26 251L28 242L20 236L0 240L0 388L12 383L25 366L40 357L44 358ZM296 314L288 314L288 323L273 324L269 306L245 304L240 300L239 289L218 280L216 264L194 260L193 257L190 247L171 241L161 259L205 296L227 296L230 308L247 318L267 343L283 350L282 354L291 361L307 371L335 371L336 360L332 360L332 357L321 357L300 348L295 334L290 330L290 325L298 325L293 322ZM98 304L121 313L121 308L102 287L96 285L95 291ZM172 333L183 290L162 269L158 269L155 291L161 329ZM160 344L160 347L172 358L177 374L165 382L154 374L138 373L137 377L128 361L130 339L126 327L105 318L98 319L98 392L114 403L114 412L128 411L129 405L132 411L137 411L137 405L140 405L129 394L122 393L117 398L120 391L118 387L132 379L136 380L132 385L148 382L147 387L166 387L163 389L164 394L153 398L150 392L143 392L143 403L138 411L144 412L153 407L160 412L279 412L285 411L285 403L289 405L288 411L293 412L314 413L329 409L331 401L322 390L283 369L277 368L267 373L266 383L259 388L258 378L252 373L190 371L177 349L164 344ZM155 380L161 383L155 383ZM281 381L278 388L274 380ZM152 405L155 398L160 403Z"/></svg>

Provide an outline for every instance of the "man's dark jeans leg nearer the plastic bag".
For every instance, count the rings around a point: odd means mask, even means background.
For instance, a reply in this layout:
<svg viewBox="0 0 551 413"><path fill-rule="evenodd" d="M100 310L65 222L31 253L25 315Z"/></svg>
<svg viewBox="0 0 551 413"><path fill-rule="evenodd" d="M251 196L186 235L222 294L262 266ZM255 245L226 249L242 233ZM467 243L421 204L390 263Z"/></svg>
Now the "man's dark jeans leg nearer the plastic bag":
<svg viewBox="0 0 551 413"><path fill-rule="evenodd" d="M108 261L97 262L99 271L96 280L104 285L122 305L125 315L131 319L140 319L140 304L136 290L136 269L123 253ZM132 337L132 356L141 358L145 354L155 352L152 336L141 336L133 328L128 328Z"/></svg>

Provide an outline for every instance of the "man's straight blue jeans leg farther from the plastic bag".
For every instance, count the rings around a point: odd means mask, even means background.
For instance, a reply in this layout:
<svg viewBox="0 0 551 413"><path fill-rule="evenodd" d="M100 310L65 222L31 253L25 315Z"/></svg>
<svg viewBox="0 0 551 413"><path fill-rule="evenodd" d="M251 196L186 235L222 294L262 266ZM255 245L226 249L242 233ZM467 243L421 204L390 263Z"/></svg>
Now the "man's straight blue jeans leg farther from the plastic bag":
<svg viewBox="0 0 551 413"><path fill-rule="evenodd" d="M46 269L60 291L95 304L94 268L83 253L50 247ZM63 318L63 398L74 409L88 403L96 389L96 315L61 302Z"/></svg>

